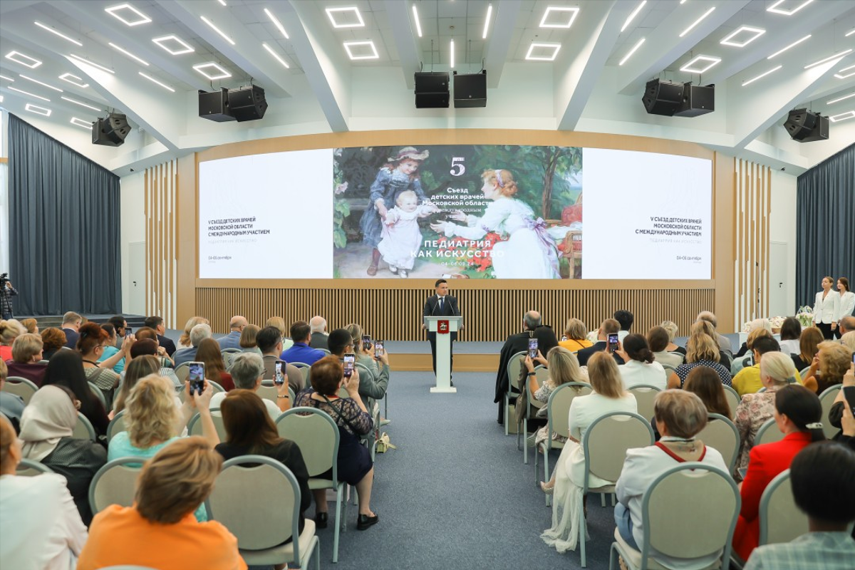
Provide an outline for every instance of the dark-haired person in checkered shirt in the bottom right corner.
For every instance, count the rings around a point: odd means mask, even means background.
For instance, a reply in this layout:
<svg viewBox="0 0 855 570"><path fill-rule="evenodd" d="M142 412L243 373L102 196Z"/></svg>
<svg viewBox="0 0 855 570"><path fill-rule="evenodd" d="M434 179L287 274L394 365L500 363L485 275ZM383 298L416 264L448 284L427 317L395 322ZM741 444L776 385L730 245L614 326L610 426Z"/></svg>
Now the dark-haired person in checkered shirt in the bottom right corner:
<svg viewBox="0 0 855 570"><path fill-rule="evenodd" d="M851 570L855 540L846 527L855 520L852 481L852 450L824 443L799 451L790 465L790 485L796 506L807 514L808 532L789 543L758 547L745 570Z"/></svg>

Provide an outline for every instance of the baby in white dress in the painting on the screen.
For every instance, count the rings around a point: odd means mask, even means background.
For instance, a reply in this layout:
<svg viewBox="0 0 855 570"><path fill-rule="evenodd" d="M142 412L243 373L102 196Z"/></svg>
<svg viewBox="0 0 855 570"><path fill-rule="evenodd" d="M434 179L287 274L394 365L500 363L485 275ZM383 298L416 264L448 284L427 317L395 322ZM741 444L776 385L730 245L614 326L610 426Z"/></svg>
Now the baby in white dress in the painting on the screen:
<svg viewBox="0 0 855 570"><path fill-rule="evenodd" d="M418 219L426 218L439 209L433 204L420 206L416 192L411 190L401 192L395 203L397 205L386 213L377 249L383 261L389 264L389 271L406 279L422 247Z"/></svg>

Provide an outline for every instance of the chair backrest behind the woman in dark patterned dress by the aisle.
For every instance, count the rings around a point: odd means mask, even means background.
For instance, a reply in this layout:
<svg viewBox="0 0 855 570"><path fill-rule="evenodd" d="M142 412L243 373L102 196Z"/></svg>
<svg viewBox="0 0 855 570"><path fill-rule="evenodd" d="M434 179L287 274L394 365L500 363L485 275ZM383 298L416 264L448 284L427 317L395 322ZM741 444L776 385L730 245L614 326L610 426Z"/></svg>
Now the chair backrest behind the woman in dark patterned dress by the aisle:
<svg viewBox="0 0 855 570"><path fill-rule="evenodd" d="M333 468L333 482L338 481L339 426L326 412L317 408L291 408L276 418L281 437L297 444L310 477Z"/></svg>

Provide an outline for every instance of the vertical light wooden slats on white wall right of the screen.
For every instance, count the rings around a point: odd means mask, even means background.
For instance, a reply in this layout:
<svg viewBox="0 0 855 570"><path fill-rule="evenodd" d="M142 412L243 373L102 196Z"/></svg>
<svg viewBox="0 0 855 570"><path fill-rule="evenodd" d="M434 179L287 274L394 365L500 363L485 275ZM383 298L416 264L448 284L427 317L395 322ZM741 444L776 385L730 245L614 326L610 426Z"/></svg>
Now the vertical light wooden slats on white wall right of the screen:
<svg viewBox="0 0 855 570"><path fill-rule="evenodd" d="M734 279L737 330L769 316L769 212L772 170L740 160L734 167Z"/></svg>

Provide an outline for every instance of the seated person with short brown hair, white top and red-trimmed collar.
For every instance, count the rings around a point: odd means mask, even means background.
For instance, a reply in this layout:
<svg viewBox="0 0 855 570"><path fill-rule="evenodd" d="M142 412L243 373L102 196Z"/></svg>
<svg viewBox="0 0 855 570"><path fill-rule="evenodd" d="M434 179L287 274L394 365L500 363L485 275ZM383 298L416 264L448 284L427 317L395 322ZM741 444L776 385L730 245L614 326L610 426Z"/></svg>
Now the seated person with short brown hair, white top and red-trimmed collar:
<svg viewBox="0 0 855 570"><path fill-rule="evenodd" d="M641 502L659 475L684 461L699 461L728 472L722 454L695 438L708 420L704 403L697 395L679 390L659 392L653 403L653 418L662 438L654 445L627 450L616 485L617 532L636 550L641 549L645 535ZM721 551L703 558L686 559L663 555L651 548L650 556L663 567L677 570L709 567L721 556Z"/></svg>

